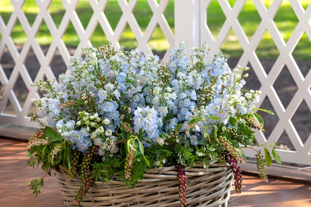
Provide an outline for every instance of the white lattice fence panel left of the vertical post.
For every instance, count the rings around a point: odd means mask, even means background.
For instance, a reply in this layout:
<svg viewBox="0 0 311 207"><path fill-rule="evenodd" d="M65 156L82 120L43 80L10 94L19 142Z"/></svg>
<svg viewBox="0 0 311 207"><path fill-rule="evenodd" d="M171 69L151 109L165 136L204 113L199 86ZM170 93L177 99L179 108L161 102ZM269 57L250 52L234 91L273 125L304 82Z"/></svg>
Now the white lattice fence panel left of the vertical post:
<svg viewBox="0 0 311 207"><path fill-rule="evenodd" d="M160 27L165 38L170 44L169 49L173 48L174 36L163 15L169 0L161 0L159 3L156 0L148 0L153 16L144 33L142 32L133 14L133 10L138 1L139 0L118 0L118 4L123 13L118 20L115 30L112 30L111 25L104 13L108 0L89 0L93 13L85 29L82 26L81 20L76 12L79 0L62 0L63 7L66 11L58 28L48 11L52 0L35 1L39 8L39 12L37 13L32 26L30 26L30 23L28 22L22 9L25 0L11 0L14 10L11 13L7 24L4 23L2 17L0 16L0 31L2 35L0 40L0 56L3 55L4 52L7 52L12 57L15 65L8 78L2 68L3 64L0 64L0 82L5 85L4 99L1 104L0 124L11 124L32 128L36 127L34 123L29 122L28 113L30 108L33 107L33 104L31 104L30 101L31 98L39 98L39 94L35 88L31 86L31 84L39 79L53 79L53 77L56 76L51 69L51 64L53 64L54 56L57 51L59 51L59 55L63 59L66 66L69 64L70 53L62 39L69 23L73 25L75 31L77 32L78 38L80 39L77 50L73 54L74 56L81 55L82 47L91 46L90 38L97 24L101 26L102 31L104 32L103 35L106 36L115 48L120 48L119 40L127 25L129 25L136 37L138 42L137 48L145 54L153 53L148 42L150 41L157 26ZM27 36L27 40L20 52L17 50L12 38L10 37L17 20L22 25L24 33ZM42 51L42 48L36 38L43 22L45 22L51 36L53 37L53 41L46 54ZM27 61L27 56L30 51L34 52L39 65L39 70L35 75L34 80L30 77L30 73L32 71L29 71L29 69L25 66L25 62ZM163 61L168 60L168 56L168 53L165 54ZM19 100L15 94L16 83L18 81L22 82L20 87L27 88L27 90L20 92L23 93L21 94L21 96L24 96L23 100Z"/></svg>

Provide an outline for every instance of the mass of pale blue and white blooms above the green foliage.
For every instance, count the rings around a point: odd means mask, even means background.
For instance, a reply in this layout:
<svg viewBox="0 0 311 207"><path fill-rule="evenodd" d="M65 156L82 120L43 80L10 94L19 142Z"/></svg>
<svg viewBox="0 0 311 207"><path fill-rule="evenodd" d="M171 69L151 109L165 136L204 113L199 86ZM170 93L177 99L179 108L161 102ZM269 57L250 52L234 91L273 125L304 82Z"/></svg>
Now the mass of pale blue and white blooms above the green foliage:
<svg viewBox="0 0 311 207"><path fill-rule="evenodd" d="M112 156L121 122L145 134L145 145L181 124L181 138L197 145L213 125L229 125L231 116L254 110L260 91L244 93L247 74L231 71L221 52L208 62L206 48L193 48L191 58L187 50L180 43L170 51L169 63L161 65L157 56L138 50L109 56L104 48L87 48L84 59L71 58L69 77L60 75L51 86L41 82L47 94L34 100L37 115L47 117L48 125L82 152L94 144L99 155Z"/></svg>

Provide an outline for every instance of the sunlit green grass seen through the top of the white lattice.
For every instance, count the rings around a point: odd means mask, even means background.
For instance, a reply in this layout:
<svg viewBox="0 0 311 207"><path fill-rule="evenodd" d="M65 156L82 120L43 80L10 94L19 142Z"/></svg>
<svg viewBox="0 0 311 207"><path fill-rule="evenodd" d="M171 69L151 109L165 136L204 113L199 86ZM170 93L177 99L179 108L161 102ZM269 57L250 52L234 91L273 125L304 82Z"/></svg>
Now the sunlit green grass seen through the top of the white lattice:
<svg viewBox="0 0 311 207"><path fill-rule="evenodd" d="M229 0L231 5L234 5L235 1L236 0ZM264 0L267 8L269 8L271 2L271 0ZM305 9L310 4L310 0L300 0L300 2ZM32 26L36 18L36 14L39 11L38 6L36 5L34 0L25 0L22 9L28 19L30 26ZM62 1L53 0L48 10L53 17L56 27L59 27L65 14L65 8L62 4ZM0 15L5 24L7 24L12 11L13 6L10 4L10 0L0 0ZM80 0L76 11L81 20L81 24L85 29L92 15L92 8L88 3L88 0ZM122 10L118 5L117 0L109 0L107 3L107 7L104 10L104 13L111 25L112 30L114 30L122 15ZM152 10L150 9L147 0L139 0L134 9L134 16L136 17L142 32L145 32L149 21L152 18L152 14ZM169 26L174 32L174 0L169 1L164 15L168 21ZM214 38L217 37L225 20L226 16L223 13L218 1L212 0L207 10L207 24L212 31ZM253 34L257 29L257 26L261 21L260 15L256 11L252 0L246 0L246 3L238 16L238 21L240 22L241 27L243 28L247 38L251 40ZM279 11L274 18L274 21L284 41L287 42L298 23L298 18L291 7L289 0L283 0ZM26 41L26 35L18 20L13 28L11 37L15 44L22 44ZM49 29L44 21L39 28L36 38L40 45L49 45L53 41L53 37L51 36ZM69 26L63 36L63 41L67 46L78 46L80 39L78 38L76 30L71 22L69 23ZM102 45L108 41L99 24L97 24L97 27L94 30L90 41L92 45ZM119 42L120 45L123 45L125 48L135 48L137 46L135 35L133 34L129 26L126 26L125 31L121 35L121 39ZM167 50L168 42L159 26L156 27L154 34L149 42L149 45L154 51ZM238 43L233 30L229 32L229 35L221 49L225 54L230 54L231 57L240 56L243 53L243 50ZM277 50L269 31L265 32L263 39L259 43L259 46L256 50L256 54L259 56L259 58L275 59L278 57L279 51ZM310 54L310 39L304 33L297 47L294 49L293 55L297 59L311 59Z"/></svg>

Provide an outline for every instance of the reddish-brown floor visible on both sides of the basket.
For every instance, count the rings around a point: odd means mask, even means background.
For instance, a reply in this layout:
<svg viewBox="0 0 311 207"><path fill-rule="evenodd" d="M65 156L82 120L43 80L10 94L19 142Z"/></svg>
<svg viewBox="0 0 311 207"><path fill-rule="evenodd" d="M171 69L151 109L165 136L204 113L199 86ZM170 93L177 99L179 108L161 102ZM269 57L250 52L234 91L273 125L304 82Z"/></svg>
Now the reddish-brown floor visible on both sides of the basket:
<svg viewBox="0 0 311 207"><path fill-rule="evenodd" d="M44 172L26 164L26 142L0 138L0 207L65 207L54 176L35 197L26 182ZM243 176L242 193L233 189L228 207L311 207L311 185Z"/></svg>

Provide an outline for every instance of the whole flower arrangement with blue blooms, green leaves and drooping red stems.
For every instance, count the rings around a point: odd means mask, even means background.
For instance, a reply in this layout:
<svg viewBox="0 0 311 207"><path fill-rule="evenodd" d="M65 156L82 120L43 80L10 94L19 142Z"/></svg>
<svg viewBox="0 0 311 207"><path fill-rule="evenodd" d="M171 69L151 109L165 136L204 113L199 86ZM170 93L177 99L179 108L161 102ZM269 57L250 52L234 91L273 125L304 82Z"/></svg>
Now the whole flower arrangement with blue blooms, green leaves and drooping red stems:
<svg viewBox="0 0 311 207"><path fill-rule="evenodd" d="M34 84L45 94L33 100L37 112L31 121L41 129L28 143L30 166L42 164L47 174L64 169L69 182L79 177L75 205L94 181L107 185L117 175L135 188L150 169L176 166L185 206L185 167L202 164L209 171L215 162L230 164L240 193L242 148L256 144L253 129L263 130L254 113L263 110L254 105L260 91L242 89L247 68L231 71L221 52L209 62L204 47L193 48L188 57L184 42L170 51L167 64L138 50L115 51L110 44L83 50L84 59L71 58L68 77ZM277 145L271 148L280 163ZM267 180L263 156L256 154L259 174ZM44 176L29 183L36 195Z"/></svg>

